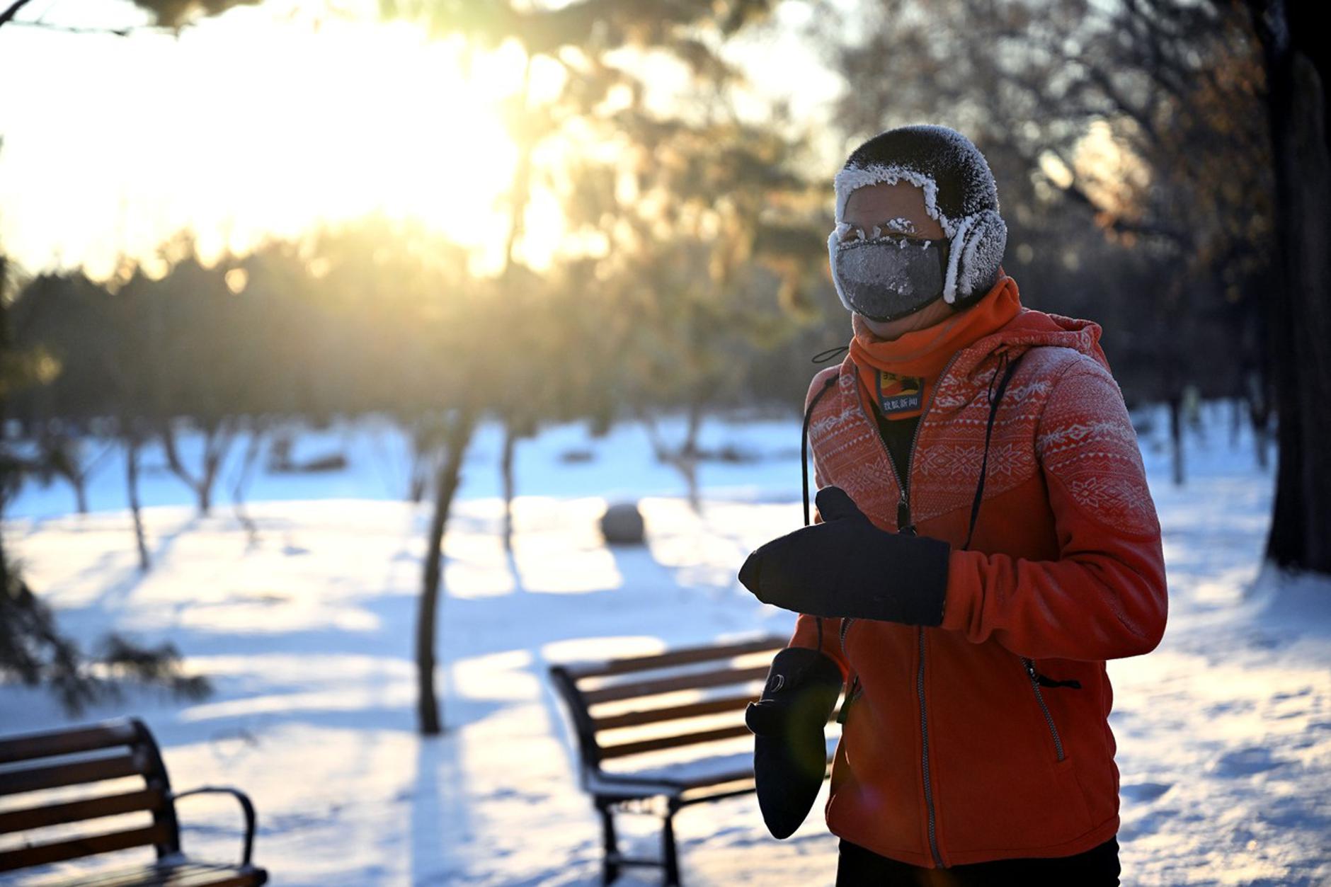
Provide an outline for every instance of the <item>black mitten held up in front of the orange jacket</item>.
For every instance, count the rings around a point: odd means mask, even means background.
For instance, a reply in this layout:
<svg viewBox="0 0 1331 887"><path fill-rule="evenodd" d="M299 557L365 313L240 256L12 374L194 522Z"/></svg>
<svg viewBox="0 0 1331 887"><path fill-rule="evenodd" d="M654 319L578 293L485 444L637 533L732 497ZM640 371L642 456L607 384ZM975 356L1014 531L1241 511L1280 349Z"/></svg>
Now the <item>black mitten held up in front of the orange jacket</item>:
<svg viewBox="0 0 1331 887"><path fill-rule="evenodd" d="M836 486L819 490L816 502L823 523L753 551L740 567L745 589L763 603L811 615L942 622L950 545L880 530Z"/></svg>

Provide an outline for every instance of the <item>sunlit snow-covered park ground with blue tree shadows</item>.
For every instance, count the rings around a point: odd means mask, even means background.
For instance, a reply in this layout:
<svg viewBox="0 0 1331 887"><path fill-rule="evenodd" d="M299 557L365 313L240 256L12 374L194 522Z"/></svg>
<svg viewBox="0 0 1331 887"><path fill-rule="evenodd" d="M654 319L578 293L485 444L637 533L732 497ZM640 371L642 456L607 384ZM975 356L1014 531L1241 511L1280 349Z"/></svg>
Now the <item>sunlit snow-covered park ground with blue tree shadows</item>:
<svg viewBox="0 0 1331 887"><path fill-rule="evenodd" d="M1272 469L1255 467L1246 432L1231 442L1227 406L1203 417L1183 487L1170 481L1163 414L1138 417L1171 605L1158 650L1110 663L1123 883L1327 884L1331 583L1260 570ZM202 702L133 690L81 719L137 714L177 787L249 791L256 859L274 883L595 883L599 826L547 667L788 633L793 615L757 603L735 571L800 523L799 422L709 422L705 446L763 458L705 465L700 514L639 430L591 440L580 426L551 429L518 450L511 558L498 535L496 442L492 428L478 440L446 538L441 739L418 738L414 718L429 511L394 501L406 470L385 426L301 440L298 457L343 449L346 471L261 474L248 493L261 529L253 546L226 497L197 517L185 487L158 470L145 483L154 567L140 575L114 454L91 490L92 514L68 514L68 489L29 489L5 538L76 637L170 639L213 679ZM579 450L590 461L562 458ZM599 539L606 502L626 495L642 497L644 549ZM64 723L48 695L0 686L0 733ZM751 747L739 739L732 750ZM836 839L823 800L784 842L767 834L752 795L684 810L685 882L831 884ZM184 803L186 850L232 858L226 800ZM654 855L658 820L620 819L624 843ZM620 883L656 882L630 870Z"/></svg>

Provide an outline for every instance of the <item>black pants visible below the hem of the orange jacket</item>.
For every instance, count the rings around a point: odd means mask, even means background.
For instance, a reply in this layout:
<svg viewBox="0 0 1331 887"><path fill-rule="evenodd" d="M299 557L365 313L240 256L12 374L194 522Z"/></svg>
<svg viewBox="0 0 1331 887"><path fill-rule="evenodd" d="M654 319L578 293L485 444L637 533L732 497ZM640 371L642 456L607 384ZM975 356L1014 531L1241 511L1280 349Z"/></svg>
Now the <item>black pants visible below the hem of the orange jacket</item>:
<svg viewBox="0 0 1331 887"><path fill-rule="evenodd" d="M921 868L888 859L841 839L836 863L836 887L988 887L990 884L1075 884L1118 887L1118 838L1075 856L1050 859L996 859L994 862Z"/></svg>

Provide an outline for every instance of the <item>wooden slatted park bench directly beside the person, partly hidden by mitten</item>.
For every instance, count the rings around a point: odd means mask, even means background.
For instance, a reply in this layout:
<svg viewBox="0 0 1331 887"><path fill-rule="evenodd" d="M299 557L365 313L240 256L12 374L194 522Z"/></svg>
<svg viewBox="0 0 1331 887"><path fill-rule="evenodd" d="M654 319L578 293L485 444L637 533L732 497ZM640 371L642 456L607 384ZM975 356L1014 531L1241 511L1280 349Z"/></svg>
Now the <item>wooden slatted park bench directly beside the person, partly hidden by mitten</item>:
<svg viewBox="0 0 1331 887"><path fill-rule="evenodd" d="M622 867L651 866L664 868L667 884L679 884L675 814L689 804L756 790L752 742L732 754L719 754L715 746L740 737L752 739L744 709L761 695L772 657L787 643L785 638L767 637L551 666L550 678L578 738L582 786L600 814L604 883L612 883ZM695 752L691 759L662 763L662 752L689 746ZM835 747L831 742L829 748ZM626 762L630 770L622 768ZM651 812L654 807L664 820L662 859L623 855L614 812Z"/></svg>

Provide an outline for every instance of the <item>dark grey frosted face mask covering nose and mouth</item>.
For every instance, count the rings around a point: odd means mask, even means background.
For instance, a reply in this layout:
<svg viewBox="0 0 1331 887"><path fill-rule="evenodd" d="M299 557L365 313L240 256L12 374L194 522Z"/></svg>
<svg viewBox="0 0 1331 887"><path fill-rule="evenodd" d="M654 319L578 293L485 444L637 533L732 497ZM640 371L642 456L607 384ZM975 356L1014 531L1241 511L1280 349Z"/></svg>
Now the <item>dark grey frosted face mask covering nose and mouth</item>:
<svg viewBox="0 0 1331 887"><path fill-rule="evenodd" d="M948 240L880 234L877 226L872 234L841 222L828 237L832 281L847 310L886 322L942 296Z"/></svg>

